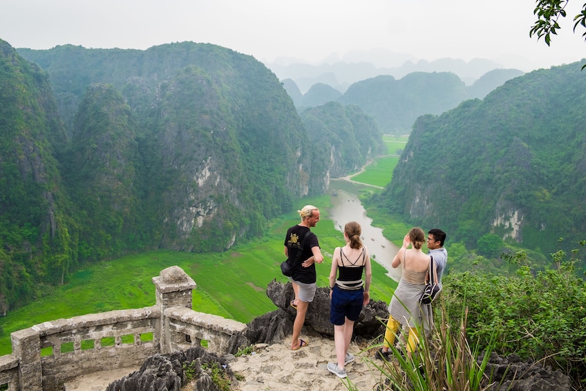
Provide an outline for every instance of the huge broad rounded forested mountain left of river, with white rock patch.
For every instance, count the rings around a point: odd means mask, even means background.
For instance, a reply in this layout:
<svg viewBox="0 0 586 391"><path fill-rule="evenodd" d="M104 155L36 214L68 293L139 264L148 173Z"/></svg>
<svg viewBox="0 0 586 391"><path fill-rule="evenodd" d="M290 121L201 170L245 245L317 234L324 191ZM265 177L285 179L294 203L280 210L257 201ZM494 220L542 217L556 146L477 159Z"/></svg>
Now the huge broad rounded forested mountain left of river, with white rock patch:
<svg viewBox="0 0 586 391"><path fill-rule="evenodd" d="M311 172L301 173L298 167L310 167L312 156L302 147L305 131L299 116L274 75L250 56L191 42L147 51L66 45L19 53L50 76L62 116L70 124L72 148L82 148L72 154L81 154L86 166L91 166L91 156L92 164L112 170L104 156L114 156L113 162L121 161L120 156L136 156L127 148L136 148L140 155L135 161L122 159L127 167L120 170L136 180L124 183L133 185L126 189L129 203L124 208L118 205L122 200L104 207L108 203L96 192L100 208L82 210L89 220L96 213L111 216L111 221L104 221L109 229L88 233L93 237L89 242L117 242L115 248L221 250L239 238L258 235L265 219L288 210L294 197L307 194L300 178ZM110 84L128 105L118 112L120 118L112 114L113 107L100 109L106 103L91 102L97 97L86 95L88 87L100 83ZM84 113L84 105L93 107L91 112ZM114 152L105 151L100 143L75 144L84 128L100 126L118 134L104 135L111 138ZM91 137L97 134L86 136ZM115 185L104 178L120 175L119 170L99 178L103 173L95 168L86 170L85 179L78 178L79 172L69 175L72 185ZM123 231L130 235L125 227L129 220L135 223L130 242L118 237Z"/></svg>

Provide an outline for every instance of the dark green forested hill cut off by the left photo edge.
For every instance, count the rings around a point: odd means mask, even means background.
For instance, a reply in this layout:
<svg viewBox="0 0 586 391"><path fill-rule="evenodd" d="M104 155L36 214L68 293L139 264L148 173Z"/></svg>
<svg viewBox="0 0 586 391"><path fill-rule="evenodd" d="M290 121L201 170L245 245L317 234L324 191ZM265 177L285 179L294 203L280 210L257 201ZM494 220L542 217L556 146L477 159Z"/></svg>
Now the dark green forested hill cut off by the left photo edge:
<svg viewBox="0 0 586 391"><path fill-rule="evenodd" d="M62 281L75 262L56 158L65 138L46 75L0 40L0 313L32 298L35 280Z"/></svg>

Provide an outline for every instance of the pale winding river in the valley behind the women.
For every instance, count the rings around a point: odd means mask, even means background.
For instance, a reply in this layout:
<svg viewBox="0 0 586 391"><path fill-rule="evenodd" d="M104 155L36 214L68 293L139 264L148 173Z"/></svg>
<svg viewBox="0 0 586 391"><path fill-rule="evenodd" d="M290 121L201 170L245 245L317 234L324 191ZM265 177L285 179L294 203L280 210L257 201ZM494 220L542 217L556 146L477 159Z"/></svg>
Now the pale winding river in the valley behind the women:
<svg viewBox="0 0 586 391"><path fill-rule="evenodd" d="M329 211L329 217L340 232L343 232L343 227L348 221L357 221L362 227L363 243L368 248L372 260L383 266L390 278L399 281L401 268L393 269L390 265L399 248L383 236L382 228L372 226L372 219L366 216L366 209L353 189L355 188L347 185L345 181L330 181L332 209Z"/></svg>

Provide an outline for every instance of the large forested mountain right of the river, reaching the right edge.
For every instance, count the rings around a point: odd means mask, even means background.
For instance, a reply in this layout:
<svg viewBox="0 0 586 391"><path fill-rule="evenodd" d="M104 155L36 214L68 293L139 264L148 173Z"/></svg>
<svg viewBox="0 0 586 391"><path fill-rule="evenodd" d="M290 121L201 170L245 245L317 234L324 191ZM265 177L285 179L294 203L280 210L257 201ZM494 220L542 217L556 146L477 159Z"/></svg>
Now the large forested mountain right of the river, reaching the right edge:
<svg viewBox="0 0 586 391"><path fill-rule="evenodd" d="M559 237L575 248L586 239L585 91L570 64L419 118L376 202L472 248L485 233L545 254Z"/></svg>

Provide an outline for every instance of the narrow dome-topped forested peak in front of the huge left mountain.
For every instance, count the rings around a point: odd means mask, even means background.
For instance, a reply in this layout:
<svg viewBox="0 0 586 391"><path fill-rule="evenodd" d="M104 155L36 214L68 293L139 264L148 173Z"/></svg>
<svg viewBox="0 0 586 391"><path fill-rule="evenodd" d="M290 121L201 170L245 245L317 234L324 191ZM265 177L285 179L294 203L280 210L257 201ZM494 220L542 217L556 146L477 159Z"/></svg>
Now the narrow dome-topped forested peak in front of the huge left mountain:
<svg viewBox="0 0 586 391"><path fill-rule="evenodd" d="M120 93L106 84L87 89L61 159L62 175L76 206L79 256L84 260L146 245L129 239L148 237L143 229L144 173L137 133L136 119Z"/></svg>

